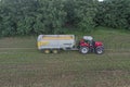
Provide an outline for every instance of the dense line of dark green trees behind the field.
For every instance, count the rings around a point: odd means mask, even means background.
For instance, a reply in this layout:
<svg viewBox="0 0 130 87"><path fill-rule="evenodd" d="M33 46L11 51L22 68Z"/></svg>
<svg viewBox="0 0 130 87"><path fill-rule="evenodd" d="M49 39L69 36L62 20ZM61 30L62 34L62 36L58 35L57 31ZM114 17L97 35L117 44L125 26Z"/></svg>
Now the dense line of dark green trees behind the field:
<svg viewBox="0 0 130 87"><path fill-rule="evenodd" d="M130 0L1 0L0 36L130 29Z"/></svg>

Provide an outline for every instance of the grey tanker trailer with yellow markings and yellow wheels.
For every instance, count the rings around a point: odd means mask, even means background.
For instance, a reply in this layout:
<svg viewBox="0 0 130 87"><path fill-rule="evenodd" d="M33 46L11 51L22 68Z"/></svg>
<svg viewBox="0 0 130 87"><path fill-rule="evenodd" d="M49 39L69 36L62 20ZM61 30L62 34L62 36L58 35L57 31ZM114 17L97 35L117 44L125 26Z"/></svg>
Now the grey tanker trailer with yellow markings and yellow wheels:
<svg viewBox="0 0 130 87"><path fill-rule="evenodd" d="M46 53L73 49L76 44L75 35L39 35L38 49Z"/></svg>

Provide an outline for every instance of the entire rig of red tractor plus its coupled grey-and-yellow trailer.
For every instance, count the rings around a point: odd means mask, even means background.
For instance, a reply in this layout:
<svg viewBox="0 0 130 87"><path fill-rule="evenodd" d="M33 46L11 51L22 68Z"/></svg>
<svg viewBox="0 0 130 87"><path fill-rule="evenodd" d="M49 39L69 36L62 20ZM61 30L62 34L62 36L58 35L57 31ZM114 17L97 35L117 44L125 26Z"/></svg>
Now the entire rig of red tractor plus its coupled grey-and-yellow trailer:
<svg viewBox="0 0 130 87"><path fill-rule="evenodd" d="M39 35L37 45L38 49L44 53L57 53L61 50L79 50L83 54L104 52L103 44L94 41L91 36L83 36L77 44L75 35Z"/></svg>

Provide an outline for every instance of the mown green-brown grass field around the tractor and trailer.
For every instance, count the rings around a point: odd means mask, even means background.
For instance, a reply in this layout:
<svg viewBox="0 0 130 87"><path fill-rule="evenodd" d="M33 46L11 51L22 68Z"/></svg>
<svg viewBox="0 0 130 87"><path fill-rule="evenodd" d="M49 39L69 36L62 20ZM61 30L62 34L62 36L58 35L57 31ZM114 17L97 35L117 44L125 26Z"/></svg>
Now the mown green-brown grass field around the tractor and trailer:
<svg viewBox="0 0 130 87"><path fill-rule="evenodd" d="M90 35L104 42L104 54L44 54L35 36L1 38L0 87L130 87L130 33L107 28Z"/></svg>

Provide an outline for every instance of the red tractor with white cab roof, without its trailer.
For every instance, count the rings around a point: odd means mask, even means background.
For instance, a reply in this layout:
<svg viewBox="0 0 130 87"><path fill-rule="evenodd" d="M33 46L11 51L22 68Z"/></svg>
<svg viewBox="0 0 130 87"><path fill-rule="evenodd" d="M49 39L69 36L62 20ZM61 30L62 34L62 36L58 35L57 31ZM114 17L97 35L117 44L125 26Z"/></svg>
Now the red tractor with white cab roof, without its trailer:
<svg viewBox="0 0 130 87"><path fill-rule="evenodd" d="M83 36L83 38L79 41L78 48L83 54L87 54L88 52L102 54L104 52L103 44L101 41L94 41L91 36Z"/></svg>

